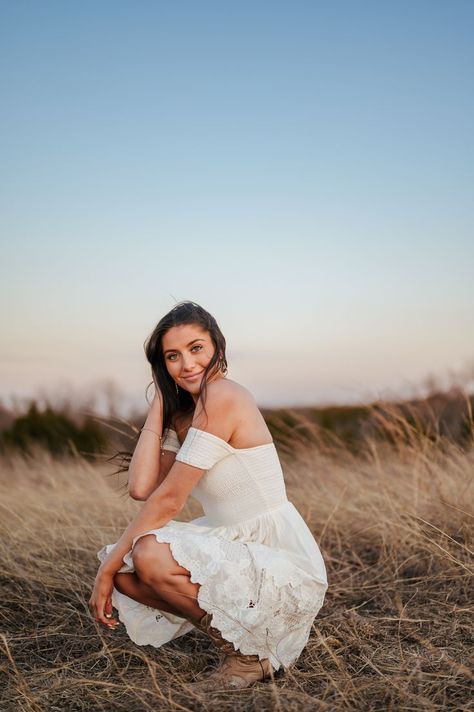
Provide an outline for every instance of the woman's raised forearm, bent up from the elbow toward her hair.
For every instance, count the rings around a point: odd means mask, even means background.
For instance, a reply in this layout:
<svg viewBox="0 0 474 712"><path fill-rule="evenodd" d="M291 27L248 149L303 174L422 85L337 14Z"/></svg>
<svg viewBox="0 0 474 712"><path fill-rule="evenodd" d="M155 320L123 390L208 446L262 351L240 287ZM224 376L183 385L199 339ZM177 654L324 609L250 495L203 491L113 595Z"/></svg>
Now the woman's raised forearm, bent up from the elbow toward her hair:
<svg viewBox="0 0 474 712"><path fill-rule="evenodd" d="M128 491L133 499L145 500L159 485L161 470L161 439L163 432L163 399L158 389L151 404L130 466Z"/></svg>

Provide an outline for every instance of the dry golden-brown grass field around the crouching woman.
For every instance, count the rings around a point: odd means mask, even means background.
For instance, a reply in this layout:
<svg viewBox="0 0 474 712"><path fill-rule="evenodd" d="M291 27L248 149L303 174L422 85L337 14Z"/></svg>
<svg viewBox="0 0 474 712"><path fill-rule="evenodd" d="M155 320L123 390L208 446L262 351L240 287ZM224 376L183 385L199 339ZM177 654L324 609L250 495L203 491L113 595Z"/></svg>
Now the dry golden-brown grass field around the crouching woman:
<svg viewBox="0 0 474 712"><path fill-rule="evenodd" d="M4 460L1 709L473 709L474 449L396 414L383 425L390 438L357 456L317 437L279 447L327 563L326 602L291 670L202 697L186 683L217 658L200 633L140 648L89 616L96 551L139 506L113 467ZM180 518L199 514L190 505Z"/></svg>

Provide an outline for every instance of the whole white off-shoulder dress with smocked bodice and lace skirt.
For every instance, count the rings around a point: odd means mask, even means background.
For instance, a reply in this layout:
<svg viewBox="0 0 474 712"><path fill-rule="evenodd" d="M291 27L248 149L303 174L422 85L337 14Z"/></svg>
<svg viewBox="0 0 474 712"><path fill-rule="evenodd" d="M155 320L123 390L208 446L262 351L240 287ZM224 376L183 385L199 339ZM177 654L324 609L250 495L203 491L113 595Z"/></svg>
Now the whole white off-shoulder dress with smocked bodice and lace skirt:
<svg viewBox="0 0 474 712"><path fill-rule="evenodd" d="M199 583L198 603L212 625L244 655L288 668L305 647L328 586L319 547L286 495L274 443L234 448L190 427L180 445L169 430L163 448L205 469L192 491L205 516L171 520L140 534L170 544L180 566ZM98 553L100 561L115 545ZM134 570L131 551L120 572ZM193 629L185 618L150 608L115 588L113 606L130 638L159 647Z"/></svg>

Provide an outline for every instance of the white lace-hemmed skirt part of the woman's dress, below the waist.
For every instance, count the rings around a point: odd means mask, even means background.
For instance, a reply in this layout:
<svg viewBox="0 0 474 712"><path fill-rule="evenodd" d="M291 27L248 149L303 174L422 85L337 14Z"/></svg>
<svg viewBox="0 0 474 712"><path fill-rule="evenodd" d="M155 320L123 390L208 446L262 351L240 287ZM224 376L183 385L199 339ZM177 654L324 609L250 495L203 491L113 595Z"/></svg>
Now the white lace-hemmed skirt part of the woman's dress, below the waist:
<svg viewBox="0 0 474 712"><path fill-rule="evenodd" d="M212 625L244 655L269 658L275 670L288 668L305 647L327 589L318 545L298 511L288 502L232 527L215 527L206 517L170 521L154 534L168 543L174 559L199 583L200 608ZM113 549L98 553L103 561ZM132 551L121 573L133 572ZM138 645L160 647L194 627L185 618L138 603L116 589L113 606Z"/></svg>

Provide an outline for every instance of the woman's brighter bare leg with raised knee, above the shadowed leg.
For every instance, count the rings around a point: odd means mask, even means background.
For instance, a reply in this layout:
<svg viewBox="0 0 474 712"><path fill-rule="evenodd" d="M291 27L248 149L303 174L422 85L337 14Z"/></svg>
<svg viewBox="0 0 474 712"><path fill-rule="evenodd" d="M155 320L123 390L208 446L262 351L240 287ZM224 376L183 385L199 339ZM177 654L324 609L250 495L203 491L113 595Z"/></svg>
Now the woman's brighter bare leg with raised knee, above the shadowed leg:
<svg viewBox="0 0 474 712"><path fill-rule="evenodd" d="M158 542L153 534L143 536L135 544L132 558L139 580L154 597L164 599L178 611L176 615L189 620L205 615L197 602L200 585L191 583L190 572L173 558L169 544Z"/></svg>

